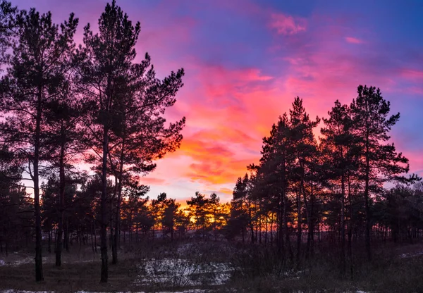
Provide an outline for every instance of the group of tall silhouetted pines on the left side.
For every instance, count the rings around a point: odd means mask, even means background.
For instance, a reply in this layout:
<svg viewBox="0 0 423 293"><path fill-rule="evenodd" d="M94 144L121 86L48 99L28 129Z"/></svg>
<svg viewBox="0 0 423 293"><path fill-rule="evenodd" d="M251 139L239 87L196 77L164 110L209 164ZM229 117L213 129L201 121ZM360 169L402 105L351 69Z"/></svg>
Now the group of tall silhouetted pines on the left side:
<svg viewBox="0 0 423 293"><path fill-rule="evenodd" d="M2 1L1 11L6 64L1 78L1 142L16 168L15 176L4 176L16 185L25 171L33 183L36 280L43 280L39 179L59 173L56 266L60 266L66 188L80 177L74 166L84 159L101 177L99 226L102 282L106 282L106 230L109 226L116 263L120 221L116 216L114 226L109 225L110 192L120 215L124 187L136 188L137 176L154 170L154 160L180 145L185 118L167 123L164 113L183 86L183 69L160 80L148 54L135 63L140 23L134 26L115 1L100 16L99 32L94 33L90 24L84 27L79 46L73 40L78 26L73 13L57 25L51 13L40 14L35 8L18 11Z"/></svg>

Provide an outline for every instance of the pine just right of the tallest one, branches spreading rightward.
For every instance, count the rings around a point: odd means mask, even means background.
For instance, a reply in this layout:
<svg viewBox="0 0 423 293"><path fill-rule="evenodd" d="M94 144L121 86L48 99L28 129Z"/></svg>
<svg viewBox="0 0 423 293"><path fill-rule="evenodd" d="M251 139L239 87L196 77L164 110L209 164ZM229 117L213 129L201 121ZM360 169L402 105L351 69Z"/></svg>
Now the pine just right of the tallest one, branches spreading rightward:
<svg viewBox="0 0 423 293"><path fill-rule="evenodd" d="M118 179L113 260L117 263L119 214L122 188L128 178L152 172L153 161L180 146L180 131L185 118L166 126L163 115L176 102L175 94L182 87L183 70L171 73L163 81L157 79L150 57L133 64L125 89L116 99L116 113L112 118L110 164Z"/></svg>

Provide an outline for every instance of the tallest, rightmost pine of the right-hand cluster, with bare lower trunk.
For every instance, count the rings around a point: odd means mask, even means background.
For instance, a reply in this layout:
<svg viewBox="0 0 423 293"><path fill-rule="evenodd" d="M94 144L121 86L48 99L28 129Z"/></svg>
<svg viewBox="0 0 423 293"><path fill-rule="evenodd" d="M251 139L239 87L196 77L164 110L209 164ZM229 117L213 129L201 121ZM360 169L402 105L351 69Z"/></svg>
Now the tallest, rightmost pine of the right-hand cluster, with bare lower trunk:
<svg viewBox="0 0 423 293"><path fill-rule="evenodd" d="M395 125L400 113L388 116L391 110L380 89L360 85L358 96L351 104L353 133L360 139L360 177L364 181L364 208L366 216L365 243L367 258L372 259L370 231L370 197L380 190L386 181L404 180L401 175L409 170L408 159L396 152L396 147L388 143L388 132ZM414 179L414 178L412 178Z"/></svg>

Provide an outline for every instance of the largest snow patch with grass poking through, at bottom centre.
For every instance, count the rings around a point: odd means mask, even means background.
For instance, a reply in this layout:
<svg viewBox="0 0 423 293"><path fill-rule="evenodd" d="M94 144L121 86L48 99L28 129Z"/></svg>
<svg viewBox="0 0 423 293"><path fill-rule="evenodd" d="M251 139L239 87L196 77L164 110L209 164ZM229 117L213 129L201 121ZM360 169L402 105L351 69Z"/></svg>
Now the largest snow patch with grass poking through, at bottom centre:
<svg viewBox="0 0 423 293"><path fill-rule="evenodd" d="M139 266L135 284L160 284L171 287L222 285L231 277L229 263L200 263L189 259L150 259Z"/></svg>

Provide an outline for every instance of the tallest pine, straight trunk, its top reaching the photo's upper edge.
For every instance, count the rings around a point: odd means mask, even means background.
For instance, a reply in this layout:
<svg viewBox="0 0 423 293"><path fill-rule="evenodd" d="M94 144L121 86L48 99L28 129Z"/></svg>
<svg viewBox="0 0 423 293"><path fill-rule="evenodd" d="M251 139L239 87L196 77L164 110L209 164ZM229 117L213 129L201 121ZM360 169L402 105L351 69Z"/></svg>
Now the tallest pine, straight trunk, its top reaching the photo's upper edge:
<svg viewBox="0 0 423 293"><path fill-rule="evenodd" d="M107 194L109 138L117 113L116 105L125 93L128 72L136 56L134 46L139 33L140 23L134 27L128 15L116 6L116 1L112 1L99 18L97 34L92 32L90 24L85 26L84 46L81 45L75 55L80 93L92 106L85 117L85 141L99 159L102 174L101 282L107 282L109 276L106 230L109 225L107 200L110 197Z"/></svg>

